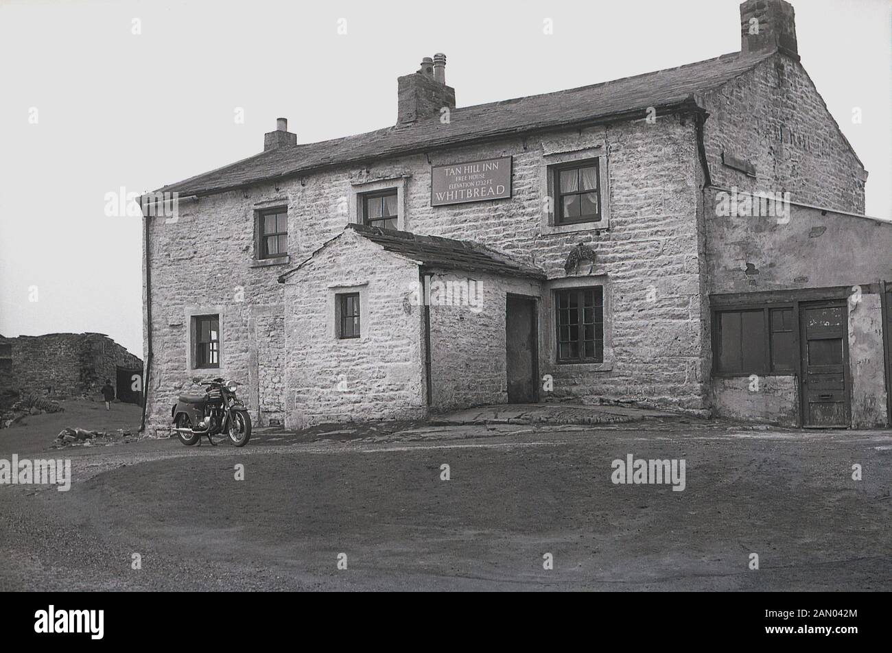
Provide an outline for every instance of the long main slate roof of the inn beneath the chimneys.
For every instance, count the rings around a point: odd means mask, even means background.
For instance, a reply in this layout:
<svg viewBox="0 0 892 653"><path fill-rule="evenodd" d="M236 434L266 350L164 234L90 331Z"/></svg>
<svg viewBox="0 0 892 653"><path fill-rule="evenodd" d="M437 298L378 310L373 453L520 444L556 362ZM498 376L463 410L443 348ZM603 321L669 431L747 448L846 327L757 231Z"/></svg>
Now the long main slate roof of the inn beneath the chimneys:
<svg viewBox="0 0 892 653"><path fill-rule="evenodd" d="M434 150L488 138L616 120L640 118L648 107L694 105L693 96L752 70L773 56L723 54L703 62L657 70L557 93L457 107L450 122L439 115L399 127L376 129L319 143L280 147L159 189L180 195L220 193L260 181L306 174L345 163Z"/></svg>

